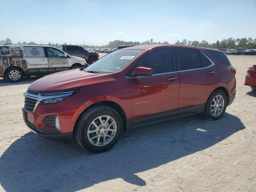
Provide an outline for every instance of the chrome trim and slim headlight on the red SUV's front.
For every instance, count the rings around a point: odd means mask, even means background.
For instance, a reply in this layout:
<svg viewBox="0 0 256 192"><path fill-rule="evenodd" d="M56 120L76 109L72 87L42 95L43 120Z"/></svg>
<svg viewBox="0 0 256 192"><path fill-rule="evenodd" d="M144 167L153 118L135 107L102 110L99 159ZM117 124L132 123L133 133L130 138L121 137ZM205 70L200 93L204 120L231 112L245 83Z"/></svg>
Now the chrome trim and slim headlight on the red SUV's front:
<svg viewBox="0 0 256 192"><path fill-rule="evenodd" d="M40 93L38 95L34 95L34 94L31 94L31 93L25 92L24 97L36 100L36 104L35 104L34 109L33 109L33 112L34 112L41 100L69 96L73 93L74 93L73 91L67 91L67 92L59 92L59 93L56 93L55 95L52 95L52 96L42 96ZM50 94L50 93L48 93L48 94ZM52 93L52 94L54 94L54 93Z"/></svg>

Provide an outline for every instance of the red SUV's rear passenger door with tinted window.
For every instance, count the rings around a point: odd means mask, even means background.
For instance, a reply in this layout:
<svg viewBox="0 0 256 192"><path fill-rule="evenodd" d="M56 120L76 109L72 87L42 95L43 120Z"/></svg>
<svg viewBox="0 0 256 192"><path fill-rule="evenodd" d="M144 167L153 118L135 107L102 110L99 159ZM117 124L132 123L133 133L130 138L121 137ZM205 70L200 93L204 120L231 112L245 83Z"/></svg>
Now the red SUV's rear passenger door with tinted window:
<svg viewBox="0 0 256 192"><path fill-rule="evenodd" d="M217 66L203 52L175 48L180 76L179 115L201 113L212 89L218 84Z"/></svg>

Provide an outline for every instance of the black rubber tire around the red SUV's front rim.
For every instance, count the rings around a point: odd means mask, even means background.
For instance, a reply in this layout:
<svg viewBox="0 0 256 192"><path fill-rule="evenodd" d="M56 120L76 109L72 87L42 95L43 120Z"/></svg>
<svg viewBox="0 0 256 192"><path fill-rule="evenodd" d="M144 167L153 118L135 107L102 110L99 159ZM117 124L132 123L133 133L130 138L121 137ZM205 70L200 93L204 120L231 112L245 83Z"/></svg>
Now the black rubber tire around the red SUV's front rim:
<svg viewBox="0 0 256 192"><path fill-rule="evenodd" d="M94 144L92 144L89 141L89 138L87 135L87 131L90 128L89 126L99 116L110 116L116 122L116 134L114 135L114 138L112 140L110 140L110 142L108 144L106 144L104 146L95 146ZM89 108L88 110L86 110L85 112L83 112L81 114L81 116L78 119L78 122L76 122L75 129L76 129L76 131L75 131L76 140L77 140L78 144L84 150L98 153L98 152L104 152L106 150L109 150L116 144L116 142L118 141L118 139L120 137L120 134L122 133L123 125L122 125L122 119L116 110L114 110L113 108L110 108L108 106L98 105L98 106L93 106L93 107ZM94 132L93 134L96 136L96 134L101 134L101 133L99 131L99 132ZM102 139L101 143L103 143L103 136L101 136L99 140L101 140L101 139Z"/></svg>

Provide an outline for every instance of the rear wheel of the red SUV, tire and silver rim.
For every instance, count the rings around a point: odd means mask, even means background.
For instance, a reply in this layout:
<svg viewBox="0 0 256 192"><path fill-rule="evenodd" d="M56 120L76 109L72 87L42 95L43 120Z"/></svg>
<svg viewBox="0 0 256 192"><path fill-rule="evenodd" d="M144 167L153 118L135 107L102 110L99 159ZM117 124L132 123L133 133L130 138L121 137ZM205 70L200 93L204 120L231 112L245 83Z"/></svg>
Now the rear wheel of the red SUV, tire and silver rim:
<svg viewBox="0 0 256 192"><path fill-rule="evenodd" d="M228 100L224 91L214 91L206 102L204 108L204 116L212 120L218 120L222 118L226 111L227 104Z"/></svg>

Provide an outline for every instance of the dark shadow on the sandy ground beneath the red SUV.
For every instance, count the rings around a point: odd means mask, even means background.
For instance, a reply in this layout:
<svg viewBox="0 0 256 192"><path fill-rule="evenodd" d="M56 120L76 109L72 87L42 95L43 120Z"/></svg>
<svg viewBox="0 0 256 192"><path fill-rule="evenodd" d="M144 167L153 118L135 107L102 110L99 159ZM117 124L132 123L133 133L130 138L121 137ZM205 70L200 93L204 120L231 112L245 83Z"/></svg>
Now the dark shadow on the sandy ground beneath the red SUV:
<svg viewBox="0 0 256 192"><path fill-rule="evenodd" d="M72 192L116 178L145 186L137 173L205 150L244 128L228 113L217 121L191 116L131 130L101 154L28 132L2 154L0 183L7 192Z"/></svg>

